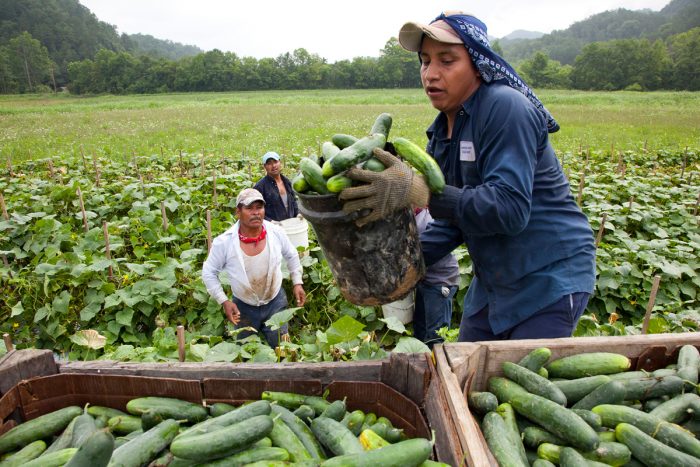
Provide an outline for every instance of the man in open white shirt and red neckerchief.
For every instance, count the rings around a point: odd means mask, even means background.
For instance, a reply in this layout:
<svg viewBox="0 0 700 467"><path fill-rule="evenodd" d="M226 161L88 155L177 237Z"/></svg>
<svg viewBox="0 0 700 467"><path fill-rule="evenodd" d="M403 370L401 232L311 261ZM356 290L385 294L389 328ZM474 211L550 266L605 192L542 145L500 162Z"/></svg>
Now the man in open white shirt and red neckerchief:
<svg viewBox="0 0 700 467"><path fill-rule="evenodd" d="M301 262L296 248L281 227L265 220L265 200L253 188L242 190L236 199L238 221L212 242L202 267L204 285L226 318L236 327L253 327L262 331L271 347L278 345L278 332L265 321L287 308L282 289L282 257L287 262L297 306L304 306ZM219 273L226 271L233 297L229 299L221 286ZM287 334L285 325L280 333ZM243 331L239 338L252 334Z"/></svg>

